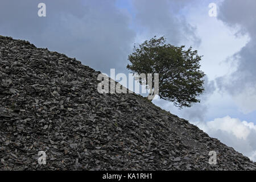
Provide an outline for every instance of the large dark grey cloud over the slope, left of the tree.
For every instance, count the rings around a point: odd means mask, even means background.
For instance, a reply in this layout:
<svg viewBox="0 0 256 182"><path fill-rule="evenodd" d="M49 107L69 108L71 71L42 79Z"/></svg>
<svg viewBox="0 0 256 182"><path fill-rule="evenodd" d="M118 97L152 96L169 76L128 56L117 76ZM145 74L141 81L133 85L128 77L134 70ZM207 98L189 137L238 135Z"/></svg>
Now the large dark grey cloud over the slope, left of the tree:
<svg viewBox="0 0 256 182"><path fill-rule="evenodd" d="M46 3L46 17L38 16L40 2ZM115 1L3 0L0 5L1 35L76 57L105 73L127 64L136 34Z"/></svg>

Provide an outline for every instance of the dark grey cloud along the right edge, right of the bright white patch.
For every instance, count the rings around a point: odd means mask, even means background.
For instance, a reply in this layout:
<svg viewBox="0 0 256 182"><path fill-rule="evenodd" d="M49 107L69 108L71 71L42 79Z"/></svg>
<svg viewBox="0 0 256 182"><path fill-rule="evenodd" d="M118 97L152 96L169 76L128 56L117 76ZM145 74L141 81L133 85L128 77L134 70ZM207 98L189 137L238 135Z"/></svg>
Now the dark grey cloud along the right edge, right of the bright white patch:
<svg viewBox="0 0 256 182"><path fill-rule="evenodd" d="M225 0L218 9L218 19L237 30L236 35L249 35L249 42L229 58L237 70L216 79L221 90L238 94L256 84L256 1Z"/></svg>

